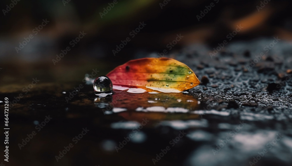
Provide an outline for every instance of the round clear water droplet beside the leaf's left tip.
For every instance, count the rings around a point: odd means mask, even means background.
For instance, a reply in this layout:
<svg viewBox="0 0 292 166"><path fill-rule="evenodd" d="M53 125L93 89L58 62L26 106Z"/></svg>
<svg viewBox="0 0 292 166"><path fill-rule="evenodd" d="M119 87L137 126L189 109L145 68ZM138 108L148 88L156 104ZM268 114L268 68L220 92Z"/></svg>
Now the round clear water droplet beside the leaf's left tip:
<svg viewBox="0 0 292 166"><path fill-rule="evenodd" d="M112 81L107 76L100 76L94 80L93 89L95 92L111 92Z"/></svg>

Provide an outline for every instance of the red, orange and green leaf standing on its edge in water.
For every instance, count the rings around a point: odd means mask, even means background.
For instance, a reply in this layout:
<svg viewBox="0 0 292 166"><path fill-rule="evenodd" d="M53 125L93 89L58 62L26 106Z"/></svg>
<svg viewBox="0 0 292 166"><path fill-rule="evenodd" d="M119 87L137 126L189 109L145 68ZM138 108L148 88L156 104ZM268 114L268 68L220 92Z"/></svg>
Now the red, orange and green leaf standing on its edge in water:
<svg viewBox="0 0 292 166"><path fill-rule="evenodd" d="M200 81L187 65L171 58L141 58L116 67L107 76L115 86L160 92L182 92Z"/></svg>

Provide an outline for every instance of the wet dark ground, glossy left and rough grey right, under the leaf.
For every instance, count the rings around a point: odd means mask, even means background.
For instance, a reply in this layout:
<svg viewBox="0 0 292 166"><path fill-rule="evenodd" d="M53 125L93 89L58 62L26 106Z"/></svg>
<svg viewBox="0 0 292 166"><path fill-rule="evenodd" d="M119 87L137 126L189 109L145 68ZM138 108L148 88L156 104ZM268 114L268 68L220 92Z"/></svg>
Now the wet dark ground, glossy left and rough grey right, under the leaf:
<svg viewBox="0 0 292 166"><path fill-rule="evenodd" d="M92 84L75 95L67 86L39 85L10 109L12 164L23 164L21 158L32 165L291 165L292 47L278 43L250 62L270 42L230 44L212 58L212 49L196 45L172 54L201 81L188 93L99 97ZM37 131L48 115L51 121ZM75 144L83 128L89 131ZM20 150L32 131L37 135ZM69 143L74 147L57 162Z"/></svg>

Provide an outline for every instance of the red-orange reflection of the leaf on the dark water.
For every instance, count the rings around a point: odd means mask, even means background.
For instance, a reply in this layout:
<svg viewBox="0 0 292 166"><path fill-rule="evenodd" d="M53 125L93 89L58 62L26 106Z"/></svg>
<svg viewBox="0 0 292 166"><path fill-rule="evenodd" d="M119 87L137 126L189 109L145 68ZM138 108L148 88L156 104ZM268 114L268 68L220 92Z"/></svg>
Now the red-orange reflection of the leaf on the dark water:
<svg viewBox="0 0 292 166"><path fill-rule="evenodd" d="M127 120L199 118L199 115L191 113L199 108L198 100L185 93L128 93L124 90L96 97L94 102L105 114L117 113Z"/></svg>

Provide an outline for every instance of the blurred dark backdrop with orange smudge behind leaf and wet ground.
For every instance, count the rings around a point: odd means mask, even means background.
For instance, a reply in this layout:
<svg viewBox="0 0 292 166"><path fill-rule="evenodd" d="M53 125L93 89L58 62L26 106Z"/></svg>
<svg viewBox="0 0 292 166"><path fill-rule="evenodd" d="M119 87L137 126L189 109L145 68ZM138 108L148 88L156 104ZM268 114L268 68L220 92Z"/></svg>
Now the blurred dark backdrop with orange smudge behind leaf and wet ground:
<svg viewBox="0 0 292 166"><path fill-rule="evenodd" d="M106 74L129 59L150 54L157 57L155 54L167 49L166 45L177 34L184 37L166 56L198 43L212 51L237 25L244 28L228 43L276 36L282 41L292 39L291 1L117 0L102 18L100 13L113 1L30 0L17 1L15 5L11 3L9 0L0 2L2 85L22 81L16 76L32 72L44 74L43 81L73 81L75 78L70 73L77 71L82 73L77 78L80 80L84 73L96 67L100 74ZM211 3L214 3L211 10L198 21L197 15L207 11L206 6ZM7 6L13 7L9 10ZM34 29L43 19L49 22L35 34ZM129 34L138 28L140 22L146 25L132 38ZM80 31L86 35L72 47L70 42ZM33 38L16 51L19 42L25 41L30 34ZM127 37L131 41L114 56L112 50ZM54 65L52 60L68 46L71 50Z"/></svg>

